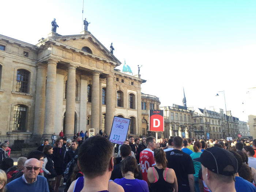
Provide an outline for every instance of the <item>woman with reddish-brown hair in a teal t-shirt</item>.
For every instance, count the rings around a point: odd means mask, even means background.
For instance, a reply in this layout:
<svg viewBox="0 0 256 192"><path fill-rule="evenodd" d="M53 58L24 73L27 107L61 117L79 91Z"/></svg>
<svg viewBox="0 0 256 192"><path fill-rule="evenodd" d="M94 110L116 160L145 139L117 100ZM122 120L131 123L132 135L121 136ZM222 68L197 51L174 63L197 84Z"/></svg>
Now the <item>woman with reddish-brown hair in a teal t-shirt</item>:
<svg viewBox="0 0 256 192"><path fill-rule="evenodd" d="M195 169L195 174L194 174L195 189L196 189L196 192L200 192L199 183L198 183L198 172L199 172L199 169L201 168L201 163L197 162L197 161L194 161L194 159L199 158L201 156L201 154L202 154L202 151L201 151L202 143L199 142L199 141L196 141L194 143L193 149L194 149L195 152L190 154L190 157L193 160L194 169Z"/></svg>

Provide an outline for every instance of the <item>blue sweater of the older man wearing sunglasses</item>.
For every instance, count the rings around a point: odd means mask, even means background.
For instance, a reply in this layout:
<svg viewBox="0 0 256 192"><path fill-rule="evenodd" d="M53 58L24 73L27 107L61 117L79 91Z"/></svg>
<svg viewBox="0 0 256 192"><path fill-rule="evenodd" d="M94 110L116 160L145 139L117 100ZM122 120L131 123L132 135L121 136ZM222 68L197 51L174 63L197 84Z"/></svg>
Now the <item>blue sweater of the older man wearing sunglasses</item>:
<svg viewBox="0 0 256 192"><path fill-rule="evenodd" d="M49 192L48 183L45 177L37 176L37 181L33 183L26 183L22 177L19 177L5 186L6 192Z"/></svg>

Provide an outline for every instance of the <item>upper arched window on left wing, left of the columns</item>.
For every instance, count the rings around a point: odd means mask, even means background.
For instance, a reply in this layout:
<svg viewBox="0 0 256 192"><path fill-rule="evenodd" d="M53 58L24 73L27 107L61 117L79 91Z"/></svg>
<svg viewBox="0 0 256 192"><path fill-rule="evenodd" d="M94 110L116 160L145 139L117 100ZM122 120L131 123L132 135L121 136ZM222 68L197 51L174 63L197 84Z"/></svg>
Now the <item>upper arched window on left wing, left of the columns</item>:
<svg viewBox="0 0 256 192"><path fill-rule="evenodd" d="M29 74L25 69L18 69L16 76L16 91L22 93L29 93Z"/></svg>

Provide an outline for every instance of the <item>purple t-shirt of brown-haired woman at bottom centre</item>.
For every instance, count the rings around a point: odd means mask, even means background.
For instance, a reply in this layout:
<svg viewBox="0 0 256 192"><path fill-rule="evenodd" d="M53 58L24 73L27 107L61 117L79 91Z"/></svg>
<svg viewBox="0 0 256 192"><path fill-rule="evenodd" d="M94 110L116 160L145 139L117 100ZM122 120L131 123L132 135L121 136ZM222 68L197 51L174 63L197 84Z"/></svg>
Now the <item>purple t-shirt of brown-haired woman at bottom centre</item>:
<svg viewBox="0 0 256 192"><path fill-rule="evenodd" d="M139 179L115 179L114 182L121 185L125 192L149 192L147 182Z"/></svg>

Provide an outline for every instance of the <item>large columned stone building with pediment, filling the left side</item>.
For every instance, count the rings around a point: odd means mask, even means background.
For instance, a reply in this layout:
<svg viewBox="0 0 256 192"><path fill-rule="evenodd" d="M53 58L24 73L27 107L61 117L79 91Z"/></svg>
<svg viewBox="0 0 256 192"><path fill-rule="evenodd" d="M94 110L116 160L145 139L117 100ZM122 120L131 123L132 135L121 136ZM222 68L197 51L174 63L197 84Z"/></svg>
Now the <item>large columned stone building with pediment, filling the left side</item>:
<svg viewBox="0 0 256 192"><path fill-rule="evenodd" d="M1 134L110 134L113 116L130 118L128 133L142 134L140 85L146 81L118 65L89 31L52 32L37 45L0 35Z"/></svg>

